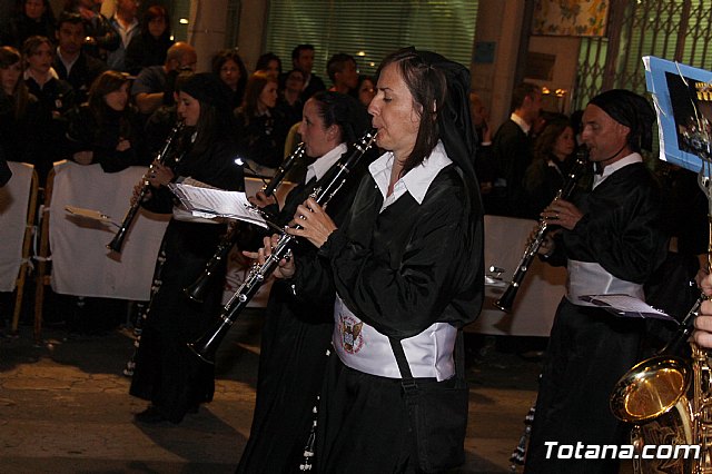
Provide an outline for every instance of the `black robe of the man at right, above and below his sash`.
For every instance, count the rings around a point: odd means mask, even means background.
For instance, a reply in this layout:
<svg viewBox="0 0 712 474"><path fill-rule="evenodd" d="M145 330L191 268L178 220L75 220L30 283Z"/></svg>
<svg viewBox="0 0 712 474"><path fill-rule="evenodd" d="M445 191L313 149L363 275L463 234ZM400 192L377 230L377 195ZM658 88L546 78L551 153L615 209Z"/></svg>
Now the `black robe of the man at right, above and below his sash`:
<svg viewBox="0 0 712 474"><path fill-rule="evenodd" d="M563 231L565 256L599 263L643 284L665 259L661 190L643 164L609 176L583 201L583 218ZM561 246L560 246L561 247ZM615 383L641 357L645 325L604 309L573 305L556 312L540 385L526 473L617 472L617 461L546 458L545 442L624 444L626 427L609 408Z"/></svg>

